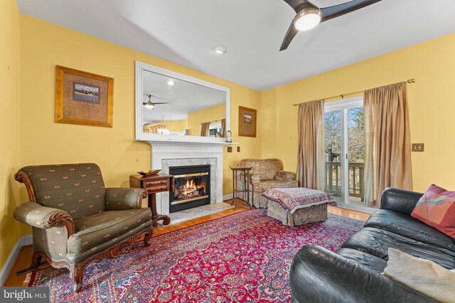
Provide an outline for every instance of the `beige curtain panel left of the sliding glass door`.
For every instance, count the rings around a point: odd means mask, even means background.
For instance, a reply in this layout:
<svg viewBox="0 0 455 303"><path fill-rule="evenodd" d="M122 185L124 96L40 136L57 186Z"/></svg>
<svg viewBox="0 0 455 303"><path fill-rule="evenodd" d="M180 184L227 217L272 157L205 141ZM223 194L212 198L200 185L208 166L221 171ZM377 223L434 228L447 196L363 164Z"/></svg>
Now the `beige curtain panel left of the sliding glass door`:
<svg viewBox="0 0 455 303"><path fill-rule="evenodd" d="M299 105L297 181L301 187L324 188L324 101Z"/></svg>

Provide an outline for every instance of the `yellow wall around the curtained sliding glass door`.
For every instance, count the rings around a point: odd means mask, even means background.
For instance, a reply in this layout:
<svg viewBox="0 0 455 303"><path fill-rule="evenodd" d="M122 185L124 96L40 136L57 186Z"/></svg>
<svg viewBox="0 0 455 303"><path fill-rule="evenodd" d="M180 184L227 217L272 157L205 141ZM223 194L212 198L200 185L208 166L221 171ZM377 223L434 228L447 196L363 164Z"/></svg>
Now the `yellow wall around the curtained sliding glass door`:
<svg viewBox="0 0 455 303"><path fill-rule="evenodd" d="M294 103L356 92L415 78L407 89L414 190L436 183L455 189L455 34L429 40L321 75L262 92L262 157L277 157L296 170L297 107Z"/></svg>

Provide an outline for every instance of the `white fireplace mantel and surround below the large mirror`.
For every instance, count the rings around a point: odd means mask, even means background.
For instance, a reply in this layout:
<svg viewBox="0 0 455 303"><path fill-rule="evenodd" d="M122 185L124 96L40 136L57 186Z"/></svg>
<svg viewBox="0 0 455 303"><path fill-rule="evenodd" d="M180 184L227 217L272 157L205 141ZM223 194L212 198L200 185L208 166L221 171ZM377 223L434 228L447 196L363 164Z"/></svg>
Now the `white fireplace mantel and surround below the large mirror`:
<svg viewBox="0 0 455 303"><path fill-rule="evenodd" d="M210 160L215 167L215 174L210 177L215 180L215 199L213 202L223 202L223 147L236 144L223 141L211 142L178 142L178 141L147 141L151 145L151 169L163 170L163 162L166 160ZM164 171L167 173L166 171ZM161 214L168 214L168 193L156 194L156 209ZM163 200L163 201L161 201Z"/></svg>

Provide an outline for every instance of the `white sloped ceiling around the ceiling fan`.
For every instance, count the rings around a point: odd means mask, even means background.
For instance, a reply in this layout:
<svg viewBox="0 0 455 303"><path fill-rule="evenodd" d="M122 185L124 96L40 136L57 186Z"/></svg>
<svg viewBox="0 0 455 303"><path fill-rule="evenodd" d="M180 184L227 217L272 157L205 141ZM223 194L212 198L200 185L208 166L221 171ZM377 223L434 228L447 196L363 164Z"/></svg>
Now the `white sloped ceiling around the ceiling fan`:
<svg viewBox="0 0 455 303"><path fill-rule="evenodd" d="M454 0L382 0L297 34L282 52L295 14L282 0L17 3L27 15L259 90L455 32ZM228 53L215 54L215 45Z"/></svg>

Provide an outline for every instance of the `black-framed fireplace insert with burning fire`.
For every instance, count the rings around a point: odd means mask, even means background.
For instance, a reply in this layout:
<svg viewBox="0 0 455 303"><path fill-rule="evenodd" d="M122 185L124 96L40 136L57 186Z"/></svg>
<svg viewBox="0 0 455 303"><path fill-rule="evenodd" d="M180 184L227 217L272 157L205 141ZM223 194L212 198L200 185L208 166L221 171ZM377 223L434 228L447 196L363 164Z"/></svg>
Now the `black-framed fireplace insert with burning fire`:
<svg viewBox="0 0 455 303"><path fill-rule="evenodd" d="M169 212L210 204L210 165L171 166L175 177L169 192Z"/></svg>

